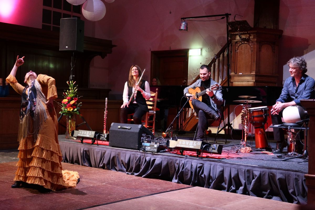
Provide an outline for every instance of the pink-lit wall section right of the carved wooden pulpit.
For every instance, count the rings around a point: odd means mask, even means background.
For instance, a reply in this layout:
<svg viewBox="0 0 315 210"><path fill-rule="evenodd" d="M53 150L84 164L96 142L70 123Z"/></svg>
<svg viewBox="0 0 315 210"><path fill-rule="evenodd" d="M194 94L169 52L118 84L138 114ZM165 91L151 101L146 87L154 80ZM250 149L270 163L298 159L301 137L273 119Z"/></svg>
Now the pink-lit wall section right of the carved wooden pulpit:
<svg viewBox="0 0 315 210"><path fill-rule="evenodd" d="M315 78L315 1L281 0L279 29L283 36L279 48L279 68L283 68L283 80L290 77L286 62L293 56L301 56L307 62L307 73Z"/></svg>

